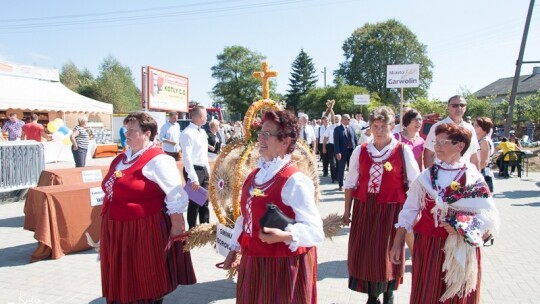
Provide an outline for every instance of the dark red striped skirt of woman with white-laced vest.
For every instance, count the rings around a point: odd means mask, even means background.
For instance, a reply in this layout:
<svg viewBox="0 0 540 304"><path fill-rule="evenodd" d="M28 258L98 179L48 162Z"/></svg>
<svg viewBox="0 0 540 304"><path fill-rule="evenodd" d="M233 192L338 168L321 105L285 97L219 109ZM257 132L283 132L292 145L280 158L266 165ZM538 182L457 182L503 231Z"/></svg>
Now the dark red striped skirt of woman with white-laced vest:
<svg viewBox="0 0 540 304"><path fill-rule="evenodd" d="M402 204L377 203L372 193L367 202L354 201L347 258L351 290L379 295L403 283L404 263L395 265L389 258L402 208ZM402 259L403 255L404 251Z"/></svg>

